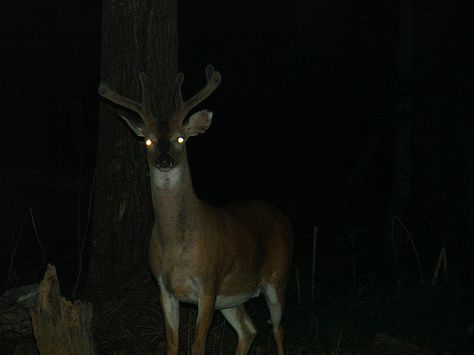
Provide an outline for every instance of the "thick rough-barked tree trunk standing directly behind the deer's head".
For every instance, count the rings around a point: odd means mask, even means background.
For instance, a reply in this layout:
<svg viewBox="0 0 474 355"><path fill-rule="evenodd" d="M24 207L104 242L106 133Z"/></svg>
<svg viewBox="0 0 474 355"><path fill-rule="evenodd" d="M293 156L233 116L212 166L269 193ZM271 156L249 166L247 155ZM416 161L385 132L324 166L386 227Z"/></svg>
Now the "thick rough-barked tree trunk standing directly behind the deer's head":
<svg viewBox="0 0 474 355"><path fill-rule="evenodd" d="M174 108L177 71L177 4L173 0L104 0L101 79L140 100L138 73L151 78L157 117ZM152 225L148 167L143 143L100 105L92 247L86 293L115 292L148 275Z"/></svg>

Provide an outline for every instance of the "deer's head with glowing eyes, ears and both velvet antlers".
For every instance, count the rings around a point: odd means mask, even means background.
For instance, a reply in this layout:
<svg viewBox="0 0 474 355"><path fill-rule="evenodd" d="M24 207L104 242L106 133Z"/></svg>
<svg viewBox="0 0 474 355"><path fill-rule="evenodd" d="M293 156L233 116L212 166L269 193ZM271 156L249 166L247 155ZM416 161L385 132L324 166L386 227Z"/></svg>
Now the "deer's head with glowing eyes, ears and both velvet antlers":
<svg viewBox="0 0 474 355"><path fill-rule="evenodd" d="M144 139L150 169L156 168L165 172L182 162L189 137L204 133L211 125L212 112L207 110L196 112L186 119L189 111L211 95L221 82L221 75L211 65L206 67L206 77L206 86L189 100L184 101L181 93L184 74L179 73L176 76L176 110L172 117L167 119L157 119L151 112L150 92L145 73L140 73L138 77L142 89L141 103L116 93L105 83L100 84L99 94L138 114L139 118L119 113L132 131Z"/></svg>

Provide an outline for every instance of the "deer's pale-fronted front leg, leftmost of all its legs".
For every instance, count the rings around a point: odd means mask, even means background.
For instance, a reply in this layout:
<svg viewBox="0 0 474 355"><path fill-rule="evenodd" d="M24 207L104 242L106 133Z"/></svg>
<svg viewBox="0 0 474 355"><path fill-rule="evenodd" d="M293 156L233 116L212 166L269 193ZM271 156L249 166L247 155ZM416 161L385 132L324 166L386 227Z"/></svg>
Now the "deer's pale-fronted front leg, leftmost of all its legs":
<svg viewBox="0 0 474 355"><path fill-rule="evenodd" d="M179 301L160 283L160 302L165 320L167 355L178 354L179 344Z"/></svg>

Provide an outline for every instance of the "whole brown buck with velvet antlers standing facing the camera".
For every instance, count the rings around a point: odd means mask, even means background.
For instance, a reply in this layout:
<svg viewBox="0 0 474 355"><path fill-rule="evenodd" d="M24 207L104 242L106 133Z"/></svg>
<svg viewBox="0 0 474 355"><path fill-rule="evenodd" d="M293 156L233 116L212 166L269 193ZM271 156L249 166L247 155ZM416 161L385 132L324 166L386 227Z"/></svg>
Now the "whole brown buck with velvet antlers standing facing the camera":
<svg viewBox="0 0 474 355"><path fill-rule="evenodd" d="M193 189L186 142L205 132L212 112L186 116L219 86L221 75L206 67L207 84L183 101L184 75L176 77L176 110L168 119L151 111L147 76L139 74L141 102L114 92L101 83L99 93L139 115L120 114L132 131L144 138L150 171L155 222L149 263L159 290L166 328L168 355L178 352L179 302L198 306L192 354L205 353L206 336L214 310L219 310L238 336L236 354L247 354L256 328L244 302L263 294L270 311L278 354L283 351L280 324L293 249L289 221L262 201L215 208Z"/></svg>

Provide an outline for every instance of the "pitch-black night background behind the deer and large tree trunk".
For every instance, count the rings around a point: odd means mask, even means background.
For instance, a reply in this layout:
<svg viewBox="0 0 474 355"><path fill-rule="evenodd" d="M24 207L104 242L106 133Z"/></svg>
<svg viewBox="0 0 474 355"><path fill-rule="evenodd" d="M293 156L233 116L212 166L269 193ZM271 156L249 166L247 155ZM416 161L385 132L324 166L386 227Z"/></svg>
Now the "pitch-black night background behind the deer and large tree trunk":
<svg viewBox="0 0 474 355"><path fill-rule="evenodd" d="M411 17L400 15L403 6ZM0 244L0 271L9 275L0 290L39 281L39 242L44 259L74 277L67 270L84 218L77 204L87 203L95 166L101 16L92 0L2 7L0 227L2 244L19 242L14 259ZM408 203L397 217L427 282L445 247L449 280L472 283L470 10L468 1L180 2L185 95L200 88L207 64L223 77L206 101L213 126L188 145L198 195L280 207L302 269L317 226L319 282L340 287L387 270L380 248L402 191ZM400 121L409 132L402 153ZM409 170L405 190L400 161ZM361 250L357 282L347 238ZM409 245L405 236L400 278L418 272L408 271L417 269Z"/></svg>

